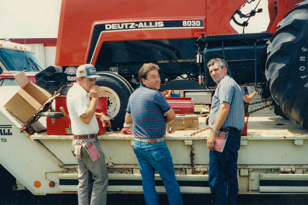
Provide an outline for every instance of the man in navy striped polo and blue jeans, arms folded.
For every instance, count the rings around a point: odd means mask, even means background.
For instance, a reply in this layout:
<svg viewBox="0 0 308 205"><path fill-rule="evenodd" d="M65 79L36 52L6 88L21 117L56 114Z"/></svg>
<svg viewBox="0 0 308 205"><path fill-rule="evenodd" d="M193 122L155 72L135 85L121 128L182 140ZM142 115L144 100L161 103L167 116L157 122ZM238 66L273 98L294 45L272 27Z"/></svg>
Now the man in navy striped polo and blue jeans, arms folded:
<svg viewBox="0 0 308 205"><path fill-rule="evenodd" d="M159 66L145 63L139 70L140 88L129 97L125 123L133 124L134 152L142 176L146 204L158 204L154 172L166 188L169 204L183 204L180 186L176 181L172 157L164 141L166 123L175 114L160 89Z"/></svg>

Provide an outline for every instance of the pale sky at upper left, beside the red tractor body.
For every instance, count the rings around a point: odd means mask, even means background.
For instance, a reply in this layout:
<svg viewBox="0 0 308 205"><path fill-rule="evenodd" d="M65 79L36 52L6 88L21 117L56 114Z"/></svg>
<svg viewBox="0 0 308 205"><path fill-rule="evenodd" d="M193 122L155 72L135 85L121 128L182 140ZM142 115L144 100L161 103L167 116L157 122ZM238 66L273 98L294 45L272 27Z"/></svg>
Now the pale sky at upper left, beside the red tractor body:
<svg viewBox="0 0 308 205"><path fill-rule="evenodd" d="M56 38L61 0L0 0L0 38Z"/></svg>

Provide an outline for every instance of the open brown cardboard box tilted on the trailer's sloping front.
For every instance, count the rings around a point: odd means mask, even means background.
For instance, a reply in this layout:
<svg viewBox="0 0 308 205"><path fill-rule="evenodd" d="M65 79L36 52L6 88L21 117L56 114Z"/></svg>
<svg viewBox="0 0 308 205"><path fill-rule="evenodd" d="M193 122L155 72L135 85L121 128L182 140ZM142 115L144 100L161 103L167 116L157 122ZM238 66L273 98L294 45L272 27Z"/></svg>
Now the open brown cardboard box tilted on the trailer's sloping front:
<svg viewBox="0 0 308 205"><path fill-rule="evenodd" d="M48 102L51 94L45 89L31 83L24 72L15 76L21 89L4 105L4 107L26 123L34 114Z"/></svg>

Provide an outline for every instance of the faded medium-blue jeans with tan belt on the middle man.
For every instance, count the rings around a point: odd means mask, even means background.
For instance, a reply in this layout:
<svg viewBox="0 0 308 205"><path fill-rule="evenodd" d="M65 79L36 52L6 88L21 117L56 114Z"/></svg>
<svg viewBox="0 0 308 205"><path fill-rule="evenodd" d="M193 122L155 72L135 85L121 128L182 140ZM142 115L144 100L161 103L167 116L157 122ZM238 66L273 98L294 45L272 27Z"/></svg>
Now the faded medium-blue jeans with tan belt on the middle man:
<svg viewBox="0 0 308 205"><path fill-rule="evenodd" d="M134 152L137 156L142 176L145 203L155 205L159 202L154 181L154 172L156 170L166 188L169 204L184 204L180 186L175 178L172 157L166 142L150 144L135 140Z"/></svg>

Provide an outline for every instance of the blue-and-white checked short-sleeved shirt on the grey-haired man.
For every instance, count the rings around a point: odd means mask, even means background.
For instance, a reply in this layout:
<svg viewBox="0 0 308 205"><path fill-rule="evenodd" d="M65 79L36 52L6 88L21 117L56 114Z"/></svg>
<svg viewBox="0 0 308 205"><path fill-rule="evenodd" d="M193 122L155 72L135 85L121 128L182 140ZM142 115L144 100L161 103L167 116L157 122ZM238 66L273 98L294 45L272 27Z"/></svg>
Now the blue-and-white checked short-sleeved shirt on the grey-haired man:
<svg viewBox="0 0 308 205"><path fill-rule="evenodd" d="M213 127L218 109L223 102L230 104L230 110L221 128L232 127L237 130L244 128L244 98L241 88L230 76L225 76L216 87L212 99L209 126Z"/></svg>

